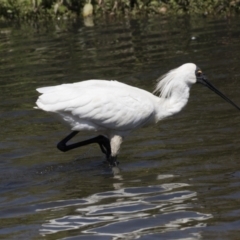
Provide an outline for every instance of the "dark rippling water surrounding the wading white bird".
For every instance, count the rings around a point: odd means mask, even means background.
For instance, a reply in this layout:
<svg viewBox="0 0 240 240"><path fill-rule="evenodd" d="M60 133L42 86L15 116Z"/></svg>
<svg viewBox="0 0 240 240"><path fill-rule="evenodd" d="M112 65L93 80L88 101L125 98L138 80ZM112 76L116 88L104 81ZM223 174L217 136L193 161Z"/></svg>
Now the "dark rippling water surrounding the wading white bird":
<svg viewBox="0 0 240 240"><path fill-rule="evenodd" d="M186 62L240 105L239 37L239 18L1 23L0 238L239 239L240 112L207 88L133 132L115 174L98 146L58 151L69 130L33 109L38 87L116 79L152 92Z"/></svg>

